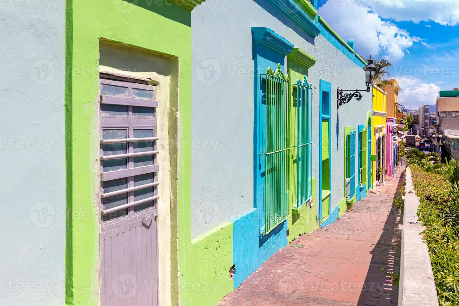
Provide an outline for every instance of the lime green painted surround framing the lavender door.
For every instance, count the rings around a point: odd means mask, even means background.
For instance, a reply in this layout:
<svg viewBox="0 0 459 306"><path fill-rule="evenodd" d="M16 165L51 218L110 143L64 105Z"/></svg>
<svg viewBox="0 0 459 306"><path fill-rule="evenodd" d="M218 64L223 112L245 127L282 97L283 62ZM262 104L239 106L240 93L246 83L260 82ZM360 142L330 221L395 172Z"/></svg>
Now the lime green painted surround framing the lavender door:
<svg viewBox="0 0 459 306"><path fill-rule="evenodd" d="M98 215L98 65L101 39L168 57L178 57L179 106L171 111L171 139L179 129L180 140L190 139L191 22L190 11L179 6L156 6L139 0L137 5L112 0L67 0L66 12L66 145L67 145L67 250L66 302L99 303ZM152 6L147 5L152 3ZM177 84L176 83L176 84ZM179 210L190 207L190 150L171 146L171 175L179 187L172 200L171 236L183 237L190 227L175 224ZM177 156L180 158L177 173ZM174 221L175 219L175 221ZM176 239L171 241L177 253ZM183 257L183 256L182 256ZM171 259L172 304L178 300L177 261ZM174 302L175 301L175 302Z"/></svg>

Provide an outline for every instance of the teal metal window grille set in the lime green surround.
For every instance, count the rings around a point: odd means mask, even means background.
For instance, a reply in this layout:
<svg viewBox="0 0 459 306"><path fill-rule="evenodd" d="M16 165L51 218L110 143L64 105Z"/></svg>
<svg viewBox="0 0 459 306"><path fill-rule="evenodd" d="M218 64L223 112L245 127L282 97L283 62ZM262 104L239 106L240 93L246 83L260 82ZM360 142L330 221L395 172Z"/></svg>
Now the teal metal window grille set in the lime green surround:
<svg viewBox="0 0 459 306"><path fill-rule="evenodd" d="M297 172L297 190L292 192L293 196L297 197L293 208L298 209L312 197L312 85L304 76L304 80L298 79L294 86L296 87L294 102L297 106L297 134L296 145L292 146L296 152L292 153L296 153L297 167L292 170Z"/></svg>

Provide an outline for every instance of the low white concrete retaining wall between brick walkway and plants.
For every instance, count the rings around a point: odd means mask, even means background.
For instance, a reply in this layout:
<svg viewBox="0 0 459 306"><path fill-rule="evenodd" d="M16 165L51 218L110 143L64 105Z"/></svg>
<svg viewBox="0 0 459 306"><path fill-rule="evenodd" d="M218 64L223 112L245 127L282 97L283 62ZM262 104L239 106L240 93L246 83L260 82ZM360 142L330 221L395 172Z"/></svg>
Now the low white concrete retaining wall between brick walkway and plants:
<svg viewBox="0 0 459 306"><path fill-rule="evenodd" d="M425 226L420 224L416 215L420 198L414 192L409 167L405 182L403 224L399 225L402 254L398 305L438 305L429 250L420 235Z"/></svg>

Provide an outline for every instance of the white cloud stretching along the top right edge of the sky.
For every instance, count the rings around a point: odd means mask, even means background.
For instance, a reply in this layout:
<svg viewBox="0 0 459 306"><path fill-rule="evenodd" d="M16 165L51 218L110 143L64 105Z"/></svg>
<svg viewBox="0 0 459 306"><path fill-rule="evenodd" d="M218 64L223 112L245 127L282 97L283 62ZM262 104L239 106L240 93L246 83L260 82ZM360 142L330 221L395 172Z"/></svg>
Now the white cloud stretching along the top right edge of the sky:
<svg viewBox="0 0 459 306"><path fill-rule="evenodd" d="M458 0L358 0L381 17L398 21L433 21L442 25L459 23Z"/></svg>

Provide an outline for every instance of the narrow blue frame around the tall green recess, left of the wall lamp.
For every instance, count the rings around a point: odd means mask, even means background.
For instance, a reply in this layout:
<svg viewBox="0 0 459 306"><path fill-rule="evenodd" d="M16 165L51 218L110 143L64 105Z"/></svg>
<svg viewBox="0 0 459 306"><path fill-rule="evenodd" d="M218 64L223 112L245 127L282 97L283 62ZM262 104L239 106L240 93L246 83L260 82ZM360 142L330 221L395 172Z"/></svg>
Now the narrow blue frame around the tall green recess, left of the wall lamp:
<svg viewBox="0 0 459 306"><path fill-rule="evenodd" d="M319 98L320 98L320 103L319 103L319 148L322 147L322 118L324 116L330 117L330 115L324 115L324 110L323 110L323 93L328 92L328 114L330 114L331 111L331 83L327 82L325 80L320 79L319 81ZM328 158L330 159L329 161L329 167L331 167L331 146L330 146L330 139L331 139L331 128L330 128L330 120L328 121L328 139L329 139L329 144L328 144ZM330 171L329 171L330 172ZM329 175L329 186L331 188L331 175ZM322 149L319 149L319 194L322 195ZM329 209L328 212L330 214L331 211L331 198L328 201L329 203ZM319 200L319 220L322 220L322 199Z"/></svg>

